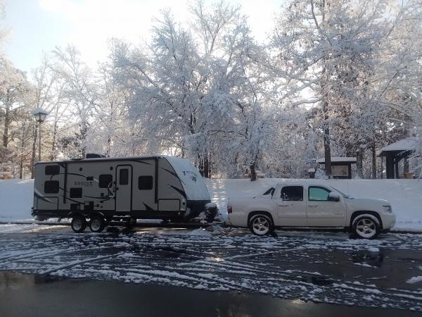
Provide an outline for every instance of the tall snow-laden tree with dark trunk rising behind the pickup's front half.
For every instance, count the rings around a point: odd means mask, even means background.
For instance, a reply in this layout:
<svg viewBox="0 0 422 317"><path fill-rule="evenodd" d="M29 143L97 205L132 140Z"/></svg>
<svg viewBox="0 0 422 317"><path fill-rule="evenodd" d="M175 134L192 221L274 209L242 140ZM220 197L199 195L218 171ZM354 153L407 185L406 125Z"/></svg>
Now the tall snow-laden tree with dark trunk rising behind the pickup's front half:
<svg viewBox="0 0 422 317"><path fill-rule="evenodd" d="M395 8L394 1L389 4ZM391 79L400 66L383 68L386 64L381 56L416 1L388 13L390 6L374 0L294 0L277 22L270 46L271 66L283 78L284 94L295 96L298 104L319 108L328 175L333 145L338 154L357 153L362 161L362 151L374 148L374 136L383 130L388 117L380 99L381 74ZM361 170L358 173L362 175Z"/></svg>

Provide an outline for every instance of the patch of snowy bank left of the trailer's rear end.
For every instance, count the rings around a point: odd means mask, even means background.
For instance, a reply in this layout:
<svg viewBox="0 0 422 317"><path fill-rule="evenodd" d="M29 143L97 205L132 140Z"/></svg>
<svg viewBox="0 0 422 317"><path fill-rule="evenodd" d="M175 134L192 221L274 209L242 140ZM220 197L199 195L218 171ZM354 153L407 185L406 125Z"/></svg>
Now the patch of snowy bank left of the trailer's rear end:
<svg viewBox="0 0 422 317"><path fill-rule="evenodd" d="M0 180L0 221L30 220L34 180Z"/></svg>

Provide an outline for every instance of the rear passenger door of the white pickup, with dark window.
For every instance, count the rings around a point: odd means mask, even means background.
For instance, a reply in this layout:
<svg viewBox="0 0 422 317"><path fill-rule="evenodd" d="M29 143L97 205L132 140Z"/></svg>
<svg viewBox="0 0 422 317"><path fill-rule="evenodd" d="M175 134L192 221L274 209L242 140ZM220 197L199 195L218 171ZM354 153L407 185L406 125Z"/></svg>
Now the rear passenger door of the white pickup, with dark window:
<svg viewBox="0 0 422 317"><path fill-rule="evenodd" d="M306 201L302 186L284 186L279 199L279 225L306 226Z"/></svg>

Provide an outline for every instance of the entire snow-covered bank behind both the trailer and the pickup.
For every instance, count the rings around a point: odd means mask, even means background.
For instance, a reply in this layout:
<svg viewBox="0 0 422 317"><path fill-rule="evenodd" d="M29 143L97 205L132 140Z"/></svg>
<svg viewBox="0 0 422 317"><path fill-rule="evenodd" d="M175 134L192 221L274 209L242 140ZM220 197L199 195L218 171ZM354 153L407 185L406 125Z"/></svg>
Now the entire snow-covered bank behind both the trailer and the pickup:
<svg viewBox="0 0 422 317"><path fill-rule="evenodd" d="M255 196L276 178L207 180L212 201L226 213L227 197ZM354 197L387 199L397 215L393 230L422 232L422 180L331 180L331 185ZM32 180L0 180L0 222L31 220Z"/></svg>

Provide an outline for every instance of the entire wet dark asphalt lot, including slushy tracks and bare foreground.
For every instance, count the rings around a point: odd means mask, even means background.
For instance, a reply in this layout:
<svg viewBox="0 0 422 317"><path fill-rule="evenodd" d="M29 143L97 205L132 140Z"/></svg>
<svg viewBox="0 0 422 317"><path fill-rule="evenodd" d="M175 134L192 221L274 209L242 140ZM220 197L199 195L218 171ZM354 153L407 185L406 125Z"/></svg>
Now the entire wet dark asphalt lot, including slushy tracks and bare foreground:
<svg viewBox="0 0 422 317"><path fill-rule="evenodd" d="M421 316L422 235L205 233L0 234L0 316Z"/></svg>

